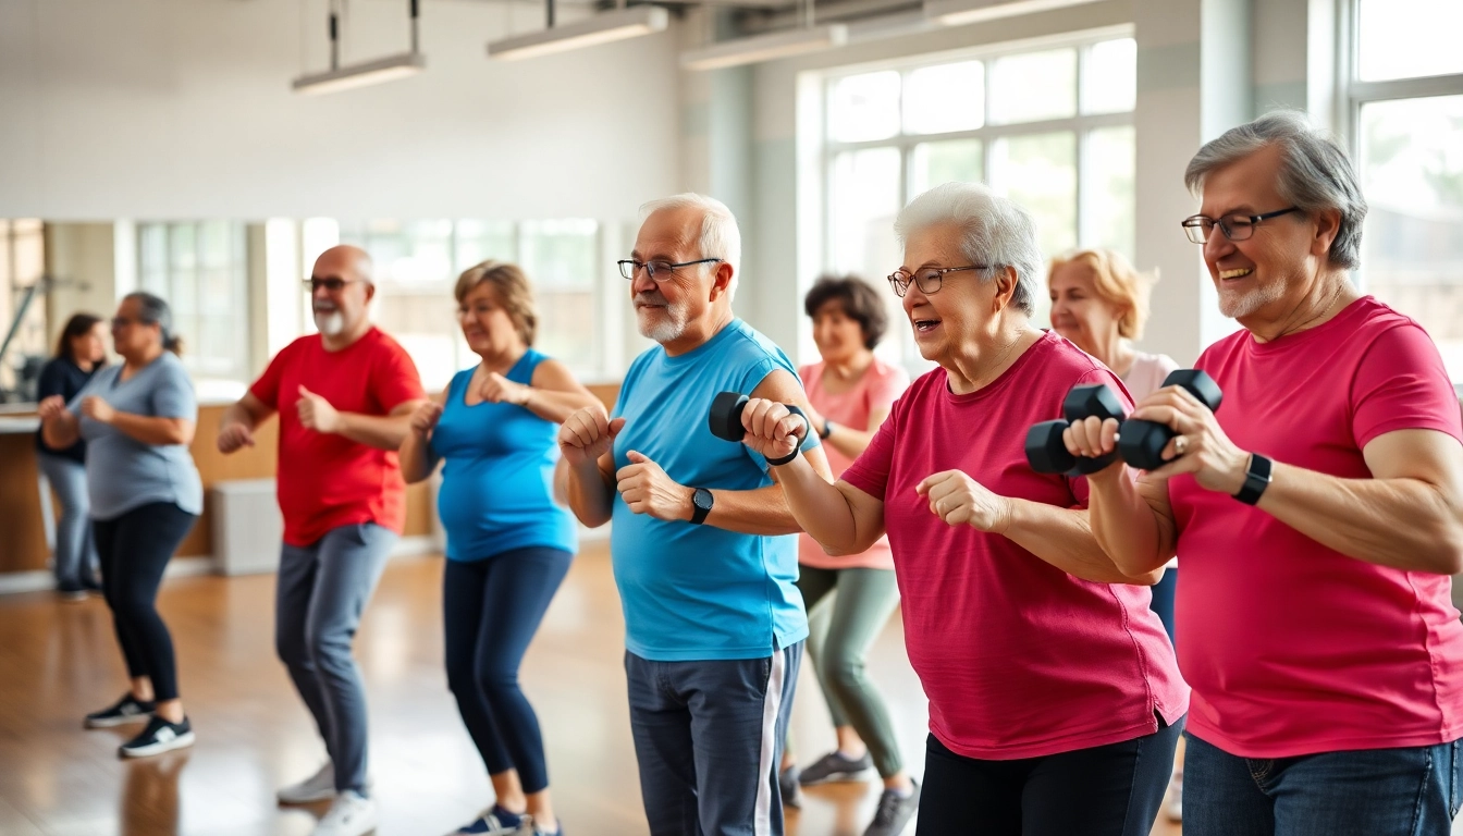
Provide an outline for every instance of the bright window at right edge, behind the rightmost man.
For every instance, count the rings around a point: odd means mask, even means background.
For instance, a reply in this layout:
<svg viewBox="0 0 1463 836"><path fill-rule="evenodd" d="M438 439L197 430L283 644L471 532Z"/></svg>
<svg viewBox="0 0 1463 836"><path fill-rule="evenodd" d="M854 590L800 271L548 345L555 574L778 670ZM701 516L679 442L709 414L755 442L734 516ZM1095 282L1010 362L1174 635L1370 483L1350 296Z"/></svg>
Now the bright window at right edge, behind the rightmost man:
<svg viewBox="0 0 1463 836"><path fill-rule="evenodd" d="M1362 287L1422 322L1463 384L1463 3L1358 0L1353 13Z"/></svg>

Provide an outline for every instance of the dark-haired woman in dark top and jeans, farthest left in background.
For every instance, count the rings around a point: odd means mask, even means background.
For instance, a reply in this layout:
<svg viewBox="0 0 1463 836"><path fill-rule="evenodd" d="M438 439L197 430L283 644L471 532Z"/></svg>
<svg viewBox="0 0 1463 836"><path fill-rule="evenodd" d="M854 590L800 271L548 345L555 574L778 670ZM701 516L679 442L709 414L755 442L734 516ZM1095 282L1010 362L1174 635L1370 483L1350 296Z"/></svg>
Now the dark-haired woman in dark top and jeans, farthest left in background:
<svg viewBox="0 0 1463 836"><path fill-rule="evenodd" d="M60 395L66 403L82 391L86 381L107 362L107 331L101 316L75 313L56 344L56 357L41 367L37 400ZM61 521L56 526L56 590L66 600L82 600L86 591L99 591L97 583L97 543L92 540L86 499L86 442L78 441L64 449L45 444L35 432L35 452L41 473L61 504Z"/></svg>

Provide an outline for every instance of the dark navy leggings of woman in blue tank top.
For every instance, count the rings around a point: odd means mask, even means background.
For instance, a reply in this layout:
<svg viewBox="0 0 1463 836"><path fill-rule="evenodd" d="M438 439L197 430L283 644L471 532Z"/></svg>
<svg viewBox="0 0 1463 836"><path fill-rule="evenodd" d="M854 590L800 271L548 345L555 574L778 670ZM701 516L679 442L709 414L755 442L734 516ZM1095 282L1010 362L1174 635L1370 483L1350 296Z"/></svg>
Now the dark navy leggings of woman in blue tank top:
<svg viewBox="0 0 1463 836"><path fill-rule="evenodd" d="M487 773L516 769L524 792L546 789L549 767L518 666L572 559L540 546L448 561L442 583L448 687Z"/></svg>

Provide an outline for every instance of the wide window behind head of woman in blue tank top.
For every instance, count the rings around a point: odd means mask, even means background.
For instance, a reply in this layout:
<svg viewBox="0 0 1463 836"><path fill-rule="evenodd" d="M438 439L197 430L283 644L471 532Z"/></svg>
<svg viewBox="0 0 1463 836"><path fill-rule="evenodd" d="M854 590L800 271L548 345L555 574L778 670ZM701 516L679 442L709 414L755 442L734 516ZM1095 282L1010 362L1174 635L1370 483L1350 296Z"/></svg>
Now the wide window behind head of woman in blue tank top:
<svg viewBox="0 0 1463 836"><path fill-rule="evenodd" d="M598 224L553 221L370 221L342 224L339 240L376 262L376 322L411 354L429 389L477 362L462 340L452 288L467 268L487 259L516 262L538 306L535 348L584 378L604 369Z"/></svg>

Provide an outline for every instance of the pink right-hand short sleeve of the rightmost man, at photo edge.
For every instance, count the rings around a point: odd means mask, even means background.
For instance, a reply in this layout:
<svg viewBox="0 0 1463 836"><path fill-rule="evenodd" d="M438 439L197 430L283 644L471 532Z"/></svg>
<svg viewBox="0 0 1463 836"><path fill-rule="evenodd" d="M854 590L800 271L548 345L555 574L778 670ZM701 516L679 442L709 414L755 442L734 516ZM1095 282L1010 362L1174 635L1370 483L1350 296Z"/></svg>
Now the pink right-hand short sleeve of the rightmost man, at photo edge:
<svg viewBox="0 0 1463 836"><path fill-rule="evenodd" d="M1352 378L1356 448L1400 429L1434 429L1463 442L1459 398L1438 347L1410 322L1380 334Z"/></svg>

